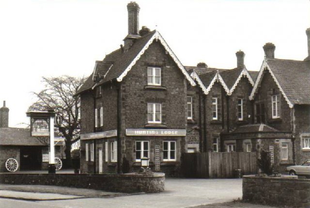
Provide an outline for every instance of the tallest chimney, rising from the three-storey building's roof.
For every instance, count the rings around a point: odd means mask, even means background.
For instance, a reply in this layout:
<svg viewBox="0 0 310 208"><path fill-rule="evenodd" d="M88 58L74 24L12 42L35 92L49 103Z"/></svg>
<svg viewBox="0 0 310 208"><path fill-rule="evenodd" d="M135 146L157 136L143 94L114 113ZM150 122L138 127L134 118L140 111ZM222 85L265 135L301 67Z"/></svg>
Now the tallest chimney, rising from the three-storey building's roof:
<svg viewBox="0 0 310 208"><path fill-rule="evenodd" d="M135 1L127 4L128 11L128 34L124 39L124 48L128 50L134 43L135 39L140 38L139 35L139 11L140 7Z"/></svg>

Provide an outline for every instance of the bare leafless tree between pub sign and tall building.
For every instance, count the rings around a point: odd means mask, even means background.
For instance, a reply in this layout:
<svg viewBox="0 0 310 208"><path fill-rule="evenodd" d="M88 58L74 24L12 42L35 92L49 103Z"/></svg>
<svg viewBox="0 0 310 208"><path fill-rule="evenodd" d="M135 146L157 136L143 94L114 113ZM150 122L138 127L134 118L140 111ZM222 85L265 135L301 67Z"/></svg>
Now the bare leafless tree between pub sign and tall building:
<svg viewBox="0 0 310 208"><path fill-rule="evenodd" d="M29 107L29 111L54 109L61 116L62 125L57 130L65 138L66 159L71 159L72 145L80 139L80 97L74 95L85 79L70 76L42 79L45 89L39 93L32 92L38 100Z"/></svg>

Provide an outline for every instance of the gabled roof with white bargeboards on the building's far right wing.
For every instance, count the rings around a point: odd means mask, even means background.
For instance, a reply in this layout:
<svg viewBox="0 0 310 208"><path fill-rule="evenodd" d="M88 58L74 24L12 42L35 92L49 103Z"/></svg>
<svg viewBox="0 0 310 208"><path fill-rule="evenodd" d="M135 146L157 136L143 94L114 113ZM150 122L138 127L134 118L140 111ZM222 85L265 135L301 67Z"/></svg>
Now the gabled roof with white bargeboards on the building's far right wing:
<svg viewBox="0 0 310 208"><path fill-rule="evenodd" d="M268 70L279 87L290 108L294 104L310 104L310 65L305 61L265 59L255 82L250 99L254 98L263 79L263 71Z"/></svg>

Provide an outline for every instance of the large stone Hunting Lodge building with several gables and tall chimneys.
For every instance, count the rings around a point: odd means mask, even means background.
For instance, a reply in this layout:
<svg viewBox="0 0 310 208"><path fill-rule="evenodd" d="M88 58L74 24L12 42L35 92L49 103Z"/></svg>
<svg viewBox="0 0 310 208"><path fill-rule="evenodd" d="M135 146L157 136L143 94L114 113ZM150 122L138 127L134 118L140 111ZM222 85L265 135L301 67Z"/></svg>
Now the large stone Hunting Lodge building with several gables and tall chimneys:
<svg viewBox="0 0 310 208"><path fill-rule="evenodd" d="M139 31L139 5L127 10L124 46L96 61L77 92L82 173L133 171L147 157L176 175L185 152L264 149L278 170L309 158L310 58L275 59L268 43L259 72L243 51L233 69L183 66L158 31Z"/></svg>

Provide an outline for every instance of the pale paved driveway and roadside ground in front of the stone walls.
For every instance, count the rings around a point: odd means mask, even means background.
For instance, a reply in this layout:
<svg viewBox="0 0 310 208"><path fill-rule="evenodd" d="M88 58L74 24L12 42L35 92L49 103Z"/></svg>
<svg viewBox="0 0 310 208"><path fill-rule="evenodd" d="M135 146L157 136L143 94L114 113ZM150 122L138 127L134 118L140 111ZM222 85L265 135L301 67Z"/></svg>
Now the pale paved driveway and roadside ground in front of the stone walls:
<svg viewBox="0 0 310 208"><path fill-rule="evenodd" d="M166 178L165 191L152 194L124 194L53 186L0 185L1 208L188 208L227 203L238 198L242 198L242 179ZM247 206L250 208L252 205Z"/></svg>

